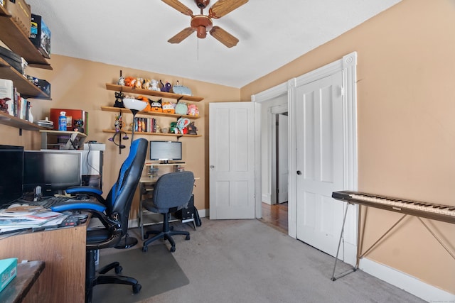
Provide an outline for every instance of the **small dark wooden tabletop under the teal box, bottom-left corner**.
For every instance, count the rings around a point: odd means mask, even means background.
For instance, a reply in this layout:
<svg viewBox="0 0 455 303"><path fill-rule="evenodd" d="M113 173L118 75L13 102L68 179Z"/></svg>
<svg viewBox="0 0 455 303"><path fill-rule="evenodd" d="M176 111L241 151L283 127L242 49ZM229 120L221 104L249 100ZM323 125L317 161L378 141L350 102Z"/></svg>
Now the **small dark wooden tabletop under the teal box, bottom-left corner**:
<svg viewBox="0 0 455 303"><path fill-rule="evenodd" d="M43 261L31 261L17 265L17 275L9 282L9 285L0 292L0 302L16 303L22 302L28 291L43 272L45 264Z"/></svg>

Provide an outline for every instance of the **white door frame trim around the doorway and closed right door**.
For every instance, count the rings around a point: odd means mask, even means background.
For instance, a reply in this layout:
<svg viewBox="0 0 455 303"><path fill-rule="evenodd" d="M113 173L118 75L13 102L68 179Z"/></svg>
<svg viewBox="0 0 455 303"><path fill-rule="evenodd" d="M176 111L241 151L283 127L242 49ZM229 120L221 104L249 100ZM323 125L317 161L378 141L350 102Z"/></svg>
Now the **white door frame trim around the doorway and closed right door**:
<svg viewBox="0 0 455 303"><path fill-rule="evenodd" d="M289 79L289 81L267 89L264 92L252 95L251 101L264 102L276 97L287 94L288 113L289 113L289 138L296 136L296 87L314 82L317 79L327 77L335 72L343 72L343 187L347 190L358 189L358 145L357 145L357 89L356 89L356 65L357 53L349 53L340 60L329 63L316 70L308 72L300 77ZM296 142L289 140L289 172L296 167ZM260 150L259 158L260 158ZM296 238L296 175L289 173L289 236ZM261 205L256 206L257 218L261 217ZM356 246L357 239L357 217L358 207L353 207L354 211L350 212L346 218L344 229L344 238L349 243ZM341 229L341 226L340 226ZM348 252L347 255L351 255ZM355 259L356 252L354 253ZM349 258L350 259L350 258ZM355 260L354 260L355 261Z"/></svg>

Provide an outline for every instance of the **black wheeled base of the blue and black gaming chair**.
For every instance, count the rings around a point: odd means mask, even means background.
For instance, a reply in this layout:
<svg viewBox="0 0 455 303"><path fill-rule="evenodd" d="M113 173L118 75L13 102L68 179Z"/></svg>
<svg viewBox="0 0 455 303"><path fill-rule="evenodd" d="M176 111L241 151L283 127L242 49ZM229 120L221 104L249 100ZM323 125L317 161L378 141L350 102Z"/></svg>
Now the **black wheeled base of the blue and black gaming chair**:
<svg viewBox="0 0 455 303"><path fill-rule="evenodd" d="M122 272L122 266L120 263L113 262L105 267L98 270L98 273L101 275L96 275L95 270L95 250L88 250L86 259L86 272L85 272L85 302L92 302L93 287L100 284L124 284L131 285L133 288L134 294L137 294L141 291L142 286L139 282L133 277L127 277L124 275L102 275L108 272L109 270L114 269L116 274Z"/></svg>

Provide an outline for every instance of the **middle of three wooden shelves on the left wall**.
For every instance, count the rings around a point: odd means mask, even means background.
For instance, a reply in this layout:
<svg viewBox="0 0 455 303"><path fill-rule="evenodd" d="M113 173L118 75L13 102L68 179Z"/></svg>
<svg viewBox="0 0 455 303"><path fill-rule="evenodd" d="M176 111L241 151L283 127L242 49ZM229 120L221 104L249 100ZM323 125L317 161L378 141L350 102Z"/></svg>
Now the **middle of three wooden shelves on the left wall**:
<svg viewBox="0 0 455 303"><path fill-rule="evenodd" d="M1 17L0 17L1 19ZM14 67L11 67L5 60L0 57L0 77L13 81L17 91L21 93L23 98L48 99L50 96L39 89L35 84L28 81L26 77L21 75Z"/></svg>

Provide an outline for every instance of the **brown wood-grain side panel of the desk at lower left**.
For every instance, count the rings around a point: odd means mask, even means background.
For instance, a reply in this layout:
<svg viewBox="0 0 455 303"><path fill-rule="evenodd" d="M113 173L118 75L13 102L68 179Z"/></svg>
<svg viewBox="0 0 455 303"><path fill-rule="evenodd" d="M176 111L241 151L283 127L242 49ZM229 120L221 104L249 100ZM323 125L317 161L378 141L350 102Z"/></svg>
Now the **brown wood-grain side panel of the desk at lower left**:
<svg viewBox="0 0 455 303"><path fill-rule="evenodd" d="M85 301L87 226L22 233L0 239L0 258L43 260L45 270L23 302Z"/></svg>

